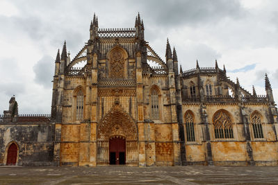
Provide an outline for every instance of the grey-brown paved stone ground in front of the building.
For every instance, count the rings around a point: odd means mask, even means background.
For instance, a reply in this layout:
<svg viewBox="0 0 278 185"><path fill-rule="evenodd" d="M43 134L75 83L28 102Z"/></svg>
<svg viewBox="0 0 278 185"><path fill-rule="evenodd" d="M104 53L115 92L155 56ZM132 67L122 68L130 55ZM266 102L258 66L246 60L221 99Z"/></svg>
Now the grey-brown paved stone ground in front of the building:
<svg viewBox="0 0 278 185"><path fill-rule="evenodd" d="M0 184L278 184L278 167L0 167Z"/></svg>

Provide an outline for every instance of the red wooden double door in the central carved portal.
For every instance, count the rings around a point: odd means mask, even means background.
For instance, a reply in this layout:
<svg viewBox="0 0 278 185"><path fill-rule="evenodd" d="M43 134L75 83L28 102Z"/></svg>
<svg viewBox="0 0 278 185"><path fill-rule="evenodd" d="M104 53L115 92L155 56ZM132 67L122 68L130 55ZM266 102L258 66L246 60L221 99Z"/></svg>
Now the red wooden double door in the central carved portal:
<svg viewBox="0 0 278 185"><path fill-rule="evenodd" d="M126 164L126 140L114 137L109 140L110 164Z"/></svg>

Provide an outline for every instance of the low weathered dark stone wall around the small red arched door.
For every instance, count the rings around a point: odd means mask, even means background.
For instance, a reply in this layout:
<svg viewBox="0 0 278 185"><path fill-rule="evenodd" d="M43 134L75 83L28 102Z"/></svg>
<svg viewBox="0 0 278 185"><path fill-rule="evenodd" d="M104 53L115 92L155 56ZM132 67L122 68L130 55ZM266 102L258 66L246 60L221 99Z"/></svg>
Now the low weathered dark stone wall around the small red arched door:
<svg viewBox="0 0 278 185"><path fill-rule="evenodd" d="M6 165L8 147L18 147L17 165L58 165L54 160L54 127L51 123L0 125L0 165Z"/></svg>

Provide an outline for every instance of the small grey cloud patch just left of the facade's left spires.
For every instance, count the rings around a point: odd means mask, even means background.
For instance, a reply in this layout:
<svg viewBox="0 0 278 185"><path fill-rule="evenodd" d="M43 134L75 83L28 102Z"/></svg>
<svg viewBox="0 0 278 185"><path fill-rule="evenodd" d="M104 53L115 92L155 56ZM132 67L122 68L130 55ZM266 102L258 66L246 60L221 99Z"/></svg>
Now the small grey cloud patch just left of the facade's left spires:
<svg viewBox="0 0 278 185"><path fill-rule="evenodd" d="M54 73L54 58L44 55L34 66L35 82L45 88L50 88L52 83L51 74Z"/></svg>

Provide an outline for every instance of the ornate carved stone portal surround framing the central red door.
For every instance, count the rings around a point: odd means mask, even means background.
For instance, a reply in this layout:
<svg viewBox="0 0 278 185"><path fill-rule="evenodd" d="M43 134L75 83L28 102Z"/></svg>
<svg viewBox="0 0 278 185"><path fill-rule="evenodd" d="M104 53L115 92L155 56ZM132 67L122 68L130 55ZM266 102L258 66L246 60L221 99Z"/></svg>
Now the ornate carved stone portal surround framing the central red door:
<svg viewBox="0 0 278 185"><path fill-rule="evenodd" d="M125 164L138 166L138 131L132 118L122 110L120 105L115 105L97 127L97 164L108 165L109 139L122 137L126 141Z"/></svg>

